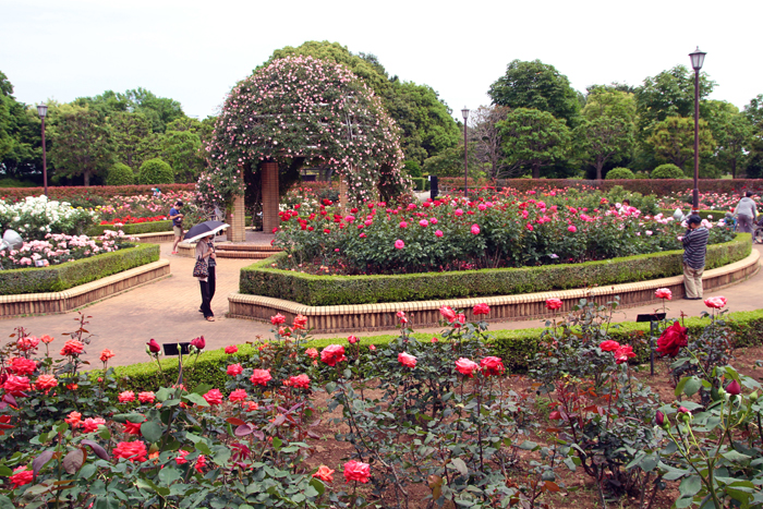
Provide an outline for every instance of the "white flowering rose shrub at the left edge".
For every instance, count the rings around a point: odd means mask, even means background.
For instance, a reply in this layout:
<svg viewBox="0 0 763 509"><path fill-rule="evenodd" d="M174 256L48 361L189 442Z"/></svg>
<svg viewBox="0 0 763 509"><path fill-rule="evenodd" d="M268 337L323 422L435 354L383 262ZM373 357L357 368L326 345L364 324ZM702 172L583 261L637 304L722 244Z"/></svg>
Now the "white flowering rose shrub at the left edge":
<svg viewBox="0 0 763 509"><path fill-rule="evenodd" d="M27 196L14 204L0 201L0 228L15 230L25 241L44 240L48 233L78 235L96 225L96 219L93 210L47 196Z"/></svg>

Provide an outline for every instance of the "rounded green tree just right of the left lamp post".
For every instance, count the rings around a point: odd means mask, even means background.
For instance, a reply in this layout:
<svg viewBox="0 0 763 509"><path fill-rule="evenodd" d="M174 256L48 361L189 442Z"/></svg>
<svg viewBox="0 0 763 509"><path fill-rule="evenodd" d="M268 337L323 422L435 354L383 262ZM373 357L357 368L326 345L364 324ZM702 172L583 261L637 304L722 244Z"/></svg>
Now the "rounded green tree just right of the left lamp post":
<svg viewBox="0 0 763 509"><path fill-rule="evenodd" d="M50 161L61 177L90 178L108 169L113 161L111 133L106 119L95 110L65 106L51 129Z"/></svg>

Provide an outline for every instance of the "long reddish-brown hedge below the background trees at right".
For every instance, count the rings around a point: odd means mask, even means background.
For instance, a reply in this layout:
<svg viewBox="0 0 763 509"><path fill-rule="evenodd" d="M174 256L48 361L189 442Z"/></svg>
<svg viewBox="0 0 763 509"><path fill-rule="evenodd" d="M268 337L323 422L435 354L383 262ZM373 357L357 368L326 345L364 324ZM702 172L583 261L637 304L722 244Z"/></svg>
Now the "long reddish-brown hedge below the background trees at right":
<svg viewBox="0 0 763 509"><path fill-rule="evenodd" d="M455 183L455 185L459 185ZM463 180L461 184L463 185ZM641 194L656 194L667 196L670 193L683 193L693 186L688 179L633 179L633 180L567 180L567 179L506 179L495 182L496 187L513 187L525 192L541 189L558 187L597 187L602 191L609 191L616 185L621 185L625 190ZM471 186L471 184L470 184ZM700 191L702 193L740 193L742 191L762 191L763 179L702 179Z"/></svg>

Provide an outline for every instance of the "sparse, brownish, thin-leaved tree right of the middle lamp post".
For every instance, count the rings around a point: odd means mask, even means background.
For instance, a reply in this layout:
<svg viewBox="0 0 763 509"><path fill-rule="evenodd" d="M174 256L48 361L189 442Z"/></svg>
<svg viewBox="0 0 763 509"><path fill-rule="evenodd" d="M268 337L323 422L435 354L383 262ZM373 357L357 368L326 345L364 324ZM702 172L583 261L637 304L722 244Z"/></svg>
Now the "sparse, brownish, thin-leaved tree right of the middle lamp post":
<svg viewBox="0 0 763 509"><path fill-rule="evenodd" d="M511 177L498 129L498 122L506 120L510 111L506 106L481 106L469 116L469 134L475 144L476 158L493 179Z"/></svg>

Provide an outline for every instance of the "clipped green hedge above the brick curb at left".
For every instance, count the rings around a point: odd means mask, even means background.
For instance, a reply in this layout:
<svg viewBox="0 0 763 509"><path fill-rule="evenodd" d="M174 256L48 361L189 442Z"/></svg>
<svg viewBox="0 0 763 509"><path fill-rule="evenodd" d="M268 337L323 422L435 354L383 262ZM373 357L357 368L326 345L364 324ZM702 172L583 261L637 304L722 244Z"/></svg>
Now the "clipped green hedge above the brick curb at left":
<svg viewBox="0 0 763 509"><path fill-rule="evenodd" d="M0 295L60 292L158 259L158 244L140 244L61 265L1 270Z"/></svg>

